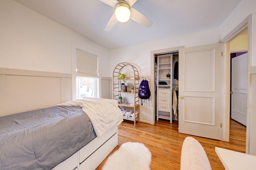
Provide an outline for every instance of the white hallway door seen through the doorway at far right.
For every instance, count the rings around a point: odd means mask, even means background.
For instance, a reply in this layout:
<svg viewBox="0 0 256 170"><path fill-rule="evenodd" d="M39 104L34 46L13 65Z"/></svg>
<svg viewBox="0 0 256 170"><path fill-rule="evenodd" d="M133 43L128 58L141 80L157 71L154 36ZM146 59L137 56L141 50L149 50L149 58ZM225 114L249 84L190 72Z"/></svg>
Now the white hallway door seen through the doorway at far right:
<svg viewBox="0 0 256 170"><path fill-rule="evenodd" d="M247 107L247 56L231 59L231 118L246 126Z"/></svg>

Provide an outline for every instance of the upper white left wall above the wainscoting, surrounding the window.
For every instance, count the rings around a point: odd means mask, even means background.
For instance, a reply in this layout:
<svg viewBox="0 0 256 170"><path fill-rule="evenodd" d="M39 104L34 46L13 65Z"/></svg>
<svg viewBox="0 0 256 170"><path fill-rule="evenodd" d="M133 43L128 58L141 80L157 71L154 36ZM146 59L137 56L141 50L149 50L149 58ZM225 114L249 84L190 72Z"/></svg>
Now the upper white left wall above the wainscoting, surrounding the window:
<svg viewBox="0 0 256 170"><path fill-rule="evenodd" d="M0 67L71 73L74 42L100 54L100 76L110 74L108 49L13 0L0 1L0 23Z"/></svg>

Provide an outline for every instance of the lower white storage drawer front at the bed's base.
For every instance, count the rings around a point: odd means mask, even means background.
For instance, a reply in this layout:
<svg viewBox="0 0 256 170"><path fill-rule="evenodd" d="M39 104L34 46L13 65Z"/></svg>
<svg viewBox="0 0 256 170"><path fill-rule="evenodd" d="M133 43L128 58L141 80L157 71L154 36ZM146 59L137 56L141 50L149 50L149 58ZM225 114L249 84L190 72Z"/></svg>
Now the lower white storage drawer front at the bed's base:
<svg viewBox="0 0 256 170"><path fill-rule="evenodd" d="M118 135L116 133L80 164L80 170L95 170L117 145Z"/></svg>

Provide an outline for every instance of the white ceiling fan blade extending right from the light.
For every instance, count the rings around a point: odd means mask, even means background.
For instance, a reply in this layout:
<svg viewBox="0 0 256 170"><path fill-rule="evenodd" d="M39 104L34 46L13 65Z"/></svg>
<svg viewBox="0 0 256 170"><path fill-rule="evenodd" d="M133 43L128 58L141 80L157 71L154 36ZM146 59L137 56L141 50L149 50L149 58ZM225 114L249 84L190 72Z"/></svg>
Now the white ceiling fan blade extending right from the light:
<svg viewBox="0 0 256 170"><path fill-rule="evenodd" d="M141 14L134 8L131 8L130 19L148 28L153 24L148 18L146 18L143 14Z"/></svg>

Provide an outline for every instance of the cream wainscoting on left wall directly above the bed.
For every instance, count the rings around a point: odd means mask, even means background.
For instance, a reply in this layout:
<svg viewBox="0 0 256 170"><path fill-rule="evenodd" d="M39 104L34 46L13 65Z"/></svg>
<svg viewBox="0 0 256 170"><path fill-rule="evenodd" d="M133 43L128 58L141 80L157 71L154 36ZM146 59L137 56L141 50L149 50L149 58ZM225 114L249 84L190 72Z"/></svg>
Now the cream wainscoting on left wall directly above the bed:
<svg viewBox="0 0 256 170"><path fill-rule="evenodd" d="M71 74L0 68L0 116L72 100Z"/></svg>

